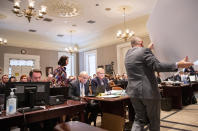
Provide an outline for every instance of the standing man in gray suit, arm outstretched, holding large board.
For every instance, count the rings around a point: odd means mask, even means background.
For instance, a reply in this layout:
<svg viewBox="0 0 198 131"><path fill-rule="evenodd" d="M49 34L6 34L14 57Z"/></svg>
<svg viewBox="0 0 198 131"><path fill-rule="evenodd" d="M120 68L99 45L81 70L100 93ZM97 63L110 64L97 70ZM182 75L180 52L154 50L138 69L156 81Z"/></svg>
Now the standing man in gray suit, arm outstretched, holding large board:
<svg viewBox="0 0 198 131"><path fill-rule="evenodd" d="M143 47L143 41L134 37L131 41L132 49L129 49L125 57L125 67L128 75L127 94L135 110L135 121L132 131L143 131L149 124L150 131L160 130L160 93L157 86L155 71L171 72L177 68L185 68L192 65L183 60L172 63L160 63L153 55L151 49Z"/></svg>

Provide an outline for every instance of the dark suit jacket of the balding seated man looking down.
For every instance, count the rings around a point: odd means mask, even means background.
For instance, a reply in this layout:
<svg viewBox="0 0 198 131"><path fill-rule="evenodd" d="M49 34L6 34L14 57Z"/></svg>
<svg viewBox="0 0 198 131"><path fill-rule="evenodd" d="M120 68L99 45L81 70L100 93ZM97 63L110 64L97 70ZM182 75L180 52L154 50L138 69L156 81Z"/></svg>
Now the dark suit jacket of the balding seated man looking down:
<svg viewBox="0 0 198 131"><path fill-rule="evenodd" d="M89 93L89 83L84 84L85 95ZM69 98L79 100L80 99L80 81L74 80L69 84Z"/></svg>

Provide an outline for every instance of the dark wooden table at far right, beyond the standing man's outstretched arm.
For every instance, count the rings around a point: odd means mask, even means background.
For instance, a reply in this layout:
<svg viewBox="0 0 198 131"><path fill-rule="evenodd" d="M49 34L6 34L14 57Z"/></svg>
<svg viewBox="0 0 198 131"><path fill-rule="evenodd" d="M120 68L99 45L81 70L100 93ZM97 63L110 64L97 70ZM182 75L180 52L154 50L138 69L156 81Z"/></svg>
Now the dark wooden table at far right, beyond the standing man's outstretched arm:
<svg viewBox="0 0 198 131"><path fill-rule="evenodd" d="M163 95L166 98L171 98L173 109L182 109L182 106L191 104L193 96L193 87L187 85L161 85Z"/></svg>

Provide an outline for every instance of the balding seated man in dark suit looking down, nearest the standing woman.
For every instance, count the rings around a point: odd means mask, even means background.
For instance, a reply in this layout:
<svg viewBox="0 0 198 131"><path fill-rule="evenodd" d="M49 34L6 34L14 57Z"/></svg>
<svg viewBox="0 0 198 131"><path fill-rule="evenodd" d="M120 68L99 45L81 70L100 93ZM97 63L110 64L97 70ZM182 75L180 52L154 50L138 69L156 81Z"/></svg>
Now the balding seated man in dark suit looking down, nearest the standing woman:
<svg viewBox="0 0 198 131"><path fill-rule="evenodd" d="M73 100L81 100L81 97L87 96L89 92L88 74L82 71L78 76L77 80L70 83L69 86L69 97ZM88 102L86 112L85 112L85 122L90 124L95 121L97 117L98 104L91 101ZM88 114L91 113L88 117ZM95 123L94 123L95 124Z"/></svg>

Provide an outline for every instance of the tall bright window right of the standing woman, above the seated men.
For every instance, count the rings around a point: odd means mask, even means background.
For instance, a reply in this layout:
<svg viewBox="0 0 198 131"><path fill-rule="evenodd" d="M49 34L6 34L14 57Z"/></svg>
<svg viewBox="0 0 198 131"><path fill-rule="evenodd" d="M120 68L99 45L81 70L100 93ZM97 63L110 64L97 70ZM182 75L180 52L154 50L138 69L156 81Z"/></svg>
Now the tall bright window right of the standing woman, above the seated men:
<svg viewBox="0 0 198 131"><path fill-rule="evenodd" d="M96 74L97 57L96 50L85 52L85 69L89 76Z"/></svg>

